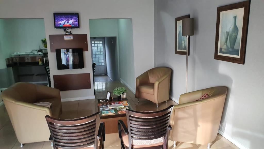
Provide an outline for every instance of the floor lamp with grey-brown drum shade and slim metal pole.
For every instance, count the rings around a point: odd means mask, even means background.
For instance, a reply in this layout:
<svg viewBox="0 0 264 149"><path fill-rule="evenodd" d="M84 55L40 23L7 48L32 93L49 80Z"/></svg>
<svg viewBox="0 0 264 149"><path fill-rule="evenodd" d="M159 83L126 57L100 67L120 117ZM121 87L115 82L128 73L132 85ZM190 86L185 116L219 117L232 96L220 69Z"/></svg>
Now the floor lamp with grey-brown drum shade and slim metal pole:
<svg viewBox="0 0 264 149"><path fill-rule="evenodd" d="M189 49L189 37L194 35L194 18L182 19L182 36L187 36L187 48L186 48L186 88L187 93L187 74L188 74L188 49Z"/></svg>

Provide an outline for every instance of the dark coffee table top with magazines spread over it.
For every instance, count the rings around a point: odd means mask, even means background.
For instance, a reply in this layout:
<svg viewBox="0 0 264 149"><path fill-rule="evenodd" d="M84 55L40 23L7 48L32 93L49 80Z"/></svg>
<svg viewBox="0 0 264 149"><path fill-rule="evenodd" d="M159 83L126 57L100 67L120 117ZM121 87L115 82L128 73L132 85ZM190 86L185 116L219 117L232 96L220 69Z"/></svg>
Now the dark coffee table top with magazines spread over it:
<svg viewBox="0 0 264 149"><path fill-rule="evenodd" d="M105 100L104 102L101 102L100 100ZM106 114L103 115L103 113L107 113L104 111L109 111L109 110L101 110L103 107L107 107L108 104L113 105L113 104L123 104L124 107L127 107L131 110L133 108L131 107L130 103L128 102L127 98L124 98L122 100L119 100L118 98L113 98L112 101L107 101L106 99L97 99L97 108L98 112L100 113L100 119L110 119L110 118L116 118L116 117L126 117L126 112L125 110L117 110L117 108L112 108L114 110L114 113L112 114ZM100 109L101 107L101 109Z"/></svg>

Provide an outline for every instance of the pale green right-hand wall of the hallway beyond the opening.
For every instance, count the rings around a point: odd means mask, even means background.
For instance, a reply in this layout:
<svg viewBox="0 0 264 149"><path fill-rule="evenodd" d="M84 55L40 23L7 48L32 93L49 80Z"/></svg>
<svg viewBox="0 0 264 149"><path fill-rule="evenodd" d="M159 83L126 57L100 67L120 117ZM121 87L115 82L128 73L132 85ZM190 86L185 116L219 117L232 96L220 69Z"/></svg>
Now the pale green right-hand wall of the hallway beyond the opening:
<svg viewBox="0 0 264 149"><path fill-rule="evenodd" d="M118 19L118 37L120 80L135 93L136 80L131 78L135 78L135 61L139 59L136 57L138 55L134 56L131 19Z"/></svg>

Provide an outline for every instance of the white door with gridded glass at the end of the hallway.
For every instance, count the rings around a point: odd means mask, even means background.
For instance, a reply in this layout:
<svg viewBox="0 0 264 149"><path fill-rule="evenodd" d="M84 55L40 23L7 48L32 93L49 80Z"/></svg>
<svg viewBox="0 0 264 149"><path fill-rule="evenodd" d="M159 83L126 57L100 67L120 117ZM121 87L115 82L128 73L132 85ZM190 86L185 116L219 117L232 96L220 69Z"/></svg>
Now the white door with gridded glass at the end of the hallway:
<svg viewBox="0 0 264 149"><path fill-rule="evenodd" d="M91 37L92 62L96 63L95 75L106 74L105 43L103 38Z"/></svg>

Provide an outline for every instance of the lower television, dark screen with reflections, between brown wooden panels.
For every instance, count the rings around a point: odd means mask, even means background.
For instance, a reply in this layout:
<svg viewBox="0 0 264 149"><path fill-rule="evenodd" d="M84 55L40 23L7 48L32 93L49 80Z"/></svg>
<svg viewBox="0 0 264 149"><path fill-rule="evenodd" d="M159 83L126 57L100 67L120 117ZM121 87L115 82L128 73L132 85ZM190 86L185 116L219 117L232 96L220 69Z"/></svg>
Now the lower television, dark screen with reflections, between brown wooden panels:
<svg viewBox="0 0 264 149"><path fill-rule="evenodd" d="M83 49L56 49L56 59L58 70L84 68Z"/></svg>

